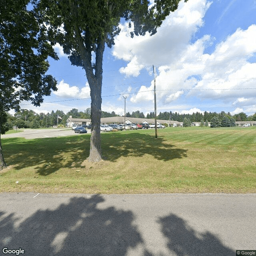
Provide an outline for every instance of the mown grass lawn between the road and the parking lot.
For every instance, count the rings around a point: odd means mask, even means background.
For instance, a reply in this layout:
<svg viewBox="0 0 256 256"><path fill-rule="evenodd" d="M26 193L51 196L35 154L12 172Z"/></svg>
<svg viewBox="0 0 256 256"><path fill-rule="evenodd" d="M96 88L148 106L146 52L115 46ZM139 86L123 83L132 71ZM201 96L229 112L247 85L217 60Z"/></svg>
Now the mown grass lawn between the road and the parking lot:
<svg viewBox="0 0 256 256"><path fill-rule="evenodd" d="M90 163L90 134L4 138L0 192L256 192L256 128L165 128L101 134L106 160ZM18 183L16 183L18 181Z"/></svg>

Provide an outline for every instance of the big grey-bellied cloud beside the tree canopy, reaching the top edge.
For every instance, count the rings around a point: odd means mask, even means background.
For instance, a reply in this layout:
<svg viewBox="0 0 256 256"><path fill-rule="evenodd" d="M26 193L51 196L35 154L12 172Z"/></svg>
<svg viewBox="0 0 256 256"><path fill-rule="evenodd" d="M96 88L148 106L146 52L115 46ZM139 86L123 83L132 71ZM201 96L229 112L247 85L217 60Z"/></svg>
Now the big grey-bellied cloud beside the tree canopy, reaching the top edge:
<svg viewBox="0 0 256 256"><path fill-rule="evenodd" d="M180 2L178 10L166 18L153 36L130 38L128 24L122 25L112 52L116 58L129 62L120 72L138 76L145 66L182 59L191 37L203 25L202 18L209 6L206 0Z"/></svg>

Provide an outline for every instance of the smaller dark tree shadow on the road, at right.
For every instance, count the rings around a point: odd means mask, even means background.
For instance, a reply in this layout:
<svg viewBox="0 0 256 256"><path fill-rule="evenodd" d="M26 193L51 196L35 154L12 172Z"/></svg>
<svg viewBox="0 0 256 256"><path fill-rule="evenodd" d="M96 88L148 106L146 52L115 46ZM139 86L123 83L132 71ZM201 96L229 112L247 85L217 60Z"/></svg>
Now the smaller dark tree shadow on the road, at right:
<svg viewBox="0 0 256 256"><path fill-rule="evenodd" d="M170 214L159 221L162 233L168 239L167 247L177 256L234 256L235 251L224 246L209 231L198 234L185 220Z"/></svg>

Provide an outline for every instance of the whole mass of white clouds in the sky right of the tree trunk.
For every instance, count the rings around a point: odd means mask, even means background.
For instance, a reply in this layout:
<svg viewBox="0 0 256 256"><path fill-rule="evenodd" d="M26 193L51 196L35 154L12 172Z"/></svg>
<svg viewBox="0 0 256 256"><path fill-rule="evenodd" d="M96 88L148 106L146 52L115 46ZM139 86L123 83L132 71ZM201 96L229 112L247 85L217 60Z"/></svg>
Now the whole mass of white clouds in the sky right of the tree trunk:
<svg viewBox="0 0 256 256"><path fill-rule="evenodd" d="M128 24L124 24L116 37L112 54L128 62L120 69L122 74L138 76L142 69L151 70L152 64L158 67L156 90L160 107L179 103L184 97L218 100L239 109L255 106L255 90L248 88L255 88L256 63L248 59L256 54L256 25L238 28L216 44L211 54L206 54L215 38L210 34L196 40L193 37L204 25L210 5L207 0L180 3L155 35L130 38ZM146 90L153 90L153 81L150 86L141 86L131 102L153 101L153 92L142 92Z"/></svg>

